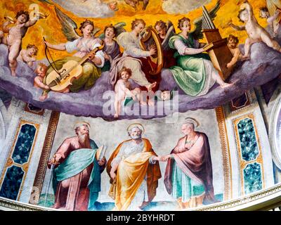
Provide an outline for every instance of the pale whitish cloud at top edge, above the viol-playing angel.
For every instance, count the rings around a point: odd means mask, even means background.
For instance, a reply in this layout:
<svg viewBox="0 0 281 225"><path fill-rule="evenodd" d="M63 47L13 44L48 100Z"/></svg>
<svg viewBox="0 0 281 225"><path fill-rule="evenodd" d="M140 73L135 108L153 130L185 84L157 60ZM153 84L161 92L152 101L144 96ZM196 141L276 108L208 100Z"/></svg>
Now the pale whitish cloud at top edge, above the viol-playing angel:
<svg viewBox="0 0 281 225"><path fill-rule="evenodd" d="M107 4L99 0L53 0L53 2L83 18L107 18L115 15Z"/></svg>

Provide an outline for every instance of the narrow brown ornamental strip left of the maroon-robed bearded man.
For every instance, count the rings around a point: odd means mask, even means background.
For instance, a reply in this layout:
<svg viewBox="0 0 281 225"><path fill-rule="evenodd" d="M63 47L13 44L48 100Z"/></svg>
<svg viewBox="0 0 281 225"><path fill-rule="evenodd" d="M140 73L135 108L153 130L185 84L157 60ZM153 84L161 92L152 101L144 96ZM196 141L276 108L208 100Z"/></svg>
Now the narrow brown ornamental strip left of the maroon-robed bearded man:
<svg viewBox="0 0 281 225"><path fill-rule="evenodd" d="M44 183L44 177L47 169L47 162L48 162L48 158L50 157L51 148L53 146L53 139L55 138L55 131L58 126L59 118L60 118L60 113L53 111L51 114L50 122L48 124L44 146L38 163L37 172L34 178L33 187L37 188L36 194L38 195L40 195ZM35 198L35 200L33 200L32 195L30 195L31 204L37 205L38 202L39 202L39 198Z"/></svg>

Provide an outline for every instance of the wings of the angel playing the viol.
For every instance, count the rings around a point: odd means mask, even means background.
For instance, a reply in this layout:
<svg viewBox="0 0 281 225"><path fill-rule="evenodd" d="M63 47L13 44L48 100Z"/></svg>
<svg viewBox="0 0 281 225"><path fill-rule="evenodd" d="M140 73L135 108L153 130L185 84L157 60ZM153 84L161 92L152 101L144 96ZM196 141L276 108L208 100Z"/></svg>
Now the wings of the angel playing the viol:
<svg viewBox="0 0 281 225"><path fill-rule="evenodd" d="M77 34L77 24L65 13L60 11L59 8L55 6L55 13L57 14L58 20L60 21L60 24L62 25L62 31L63 34L65 34L65 37L67 38L67 41L74 41L80 37L79 34ZM99 27L94 27L93 29L93 36L95 36L96 33L100 31Z"/></svg>

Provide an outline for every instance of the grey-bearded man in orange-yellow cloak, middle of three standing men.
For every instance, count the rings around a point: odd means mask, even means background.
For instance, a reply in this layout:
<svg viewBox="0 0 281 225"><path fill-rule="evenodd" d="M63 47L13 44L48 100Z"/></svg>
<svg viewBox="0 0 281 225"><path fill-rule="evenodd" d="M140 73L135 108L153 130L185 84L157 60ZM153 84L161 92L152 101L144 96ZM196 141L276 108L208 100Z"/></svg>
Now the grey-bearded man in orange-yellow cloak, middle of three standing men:
<svg viewBox="0 0 281 225"><path fill-rule="evenodd" d="M131 124L131 139L117 146L107 163L113 192L115 210L141 210L156 195L158 179L161 178L159 158L148 139L143 139L143 126Z"/></svg>

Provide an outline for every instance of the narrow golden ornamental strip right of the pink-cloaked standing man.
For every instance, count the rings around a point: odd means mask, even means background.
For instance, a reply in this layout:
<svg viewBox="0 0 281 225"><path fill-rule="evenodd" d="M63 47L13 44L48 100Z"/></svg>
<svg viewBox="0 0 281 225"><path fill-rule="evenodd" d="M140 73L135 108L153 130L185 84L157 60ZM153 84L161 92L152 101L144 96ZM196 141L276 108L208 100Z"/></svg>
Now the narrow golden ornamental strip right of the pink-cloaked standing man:
<svg viewBox="0 0 281 225"><path fill-rule="evenodd" d="M230 160L230 148L228 142L228 131L226 129L226 116L223 107L216 108L216 120L218 121L218 130L221 139L221 149L223 153L223 172L224 172L224 198L230 200L233 197L232 171Z"/></svg>

